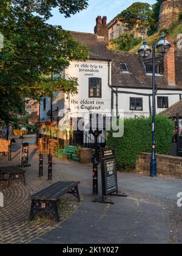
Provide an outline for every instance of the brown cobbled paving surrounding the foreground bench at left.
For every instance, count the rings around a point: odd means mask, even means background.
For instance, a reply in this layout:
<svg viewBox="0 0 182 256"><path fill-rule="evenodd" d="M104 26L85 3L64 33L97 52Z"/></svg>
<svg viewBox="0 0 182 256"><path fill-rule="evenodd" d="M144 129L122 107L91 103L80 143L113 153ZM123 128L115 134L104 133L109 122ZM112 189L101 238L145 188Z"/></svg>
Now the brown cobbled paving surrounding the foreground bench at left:
<svg viewBox="0 0 182 256"><path fill-rule="evenodd" d="M0 157L1 166L17 165L19 163L19 146L15 144L12 152L12 162L7 162L7 157ZM38 152L30 145L30 156L32 154L32 166L25 168L27 185L23 183L12 183L7 187L7 182L0 182L0 192L4 195L4 207L0 207L0 243L29 243L42 233L47 232L69 218L78 207L75 197L66 195L62 197L59 206L61 222L57 224L51 216L39 215L35 221L29 222L31 201L29 196L48 187L58 180L72 180L72 177L59 176L55 174L53 182L48 182L47 177L38 177ZM46 156L44 157L46 159ZM46 168L47 166L45 166ZM46 173L47 174L47 173Z"/></svg>

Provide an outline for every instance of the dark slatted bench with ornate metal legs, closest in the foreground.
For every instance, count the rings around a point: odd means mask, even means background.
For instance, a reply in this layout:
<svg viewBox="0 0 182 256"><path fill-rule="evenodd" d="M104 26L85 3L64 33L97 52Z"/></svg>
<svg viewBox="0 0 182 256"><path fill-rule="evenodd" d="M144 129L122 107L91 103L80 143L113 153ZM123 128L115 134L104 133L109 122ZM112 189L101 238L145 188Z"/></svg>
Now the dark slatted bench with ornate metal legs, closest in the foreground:
<svg viewBox="0 0 182 256"><path fill-rule="evenodd" d="M39 212L51 213L57 222L59 222L58 214L58 201L64 194L73 194L80 202L79 182L56 182L44 190L33 194L30 198L32 199L32 206L30 210L30 221L33 220L34 216Z"/></svg>

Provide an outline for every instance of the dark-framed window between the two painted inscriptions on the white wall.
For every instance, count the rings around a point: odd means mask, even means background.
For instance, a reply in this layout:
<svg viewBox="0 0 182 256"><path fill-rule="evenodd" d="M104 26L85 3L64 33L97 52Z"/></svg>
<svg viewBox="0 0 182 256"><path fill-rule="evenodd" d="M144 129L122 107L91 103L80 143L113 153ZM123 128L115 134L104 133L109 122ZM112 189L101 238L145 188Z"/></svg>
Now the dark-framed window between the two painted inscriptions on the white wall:
<svg viewBox="0 0 182 256"><path fill-rule="evenodd" d="M101 78L89 78L89 98L102 98Z"/></svg>

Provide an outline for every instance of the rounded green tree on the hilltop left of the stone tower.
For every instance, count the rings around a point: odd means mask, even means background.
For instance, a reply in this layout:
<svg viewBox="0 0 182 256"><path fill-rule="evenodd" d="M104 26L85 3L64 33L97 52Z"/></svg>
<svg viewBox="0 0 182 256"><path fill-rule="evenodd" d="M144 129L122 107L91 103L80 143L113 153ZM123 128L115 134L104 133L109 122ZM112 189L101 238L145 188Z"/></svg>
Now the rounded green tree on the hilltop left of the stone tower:
<svg viewBox="0 0 182 256"><path fill-rule="evenodd" d="M136 24L139 29L141 27L146 29L152 22L152 9L150 7L150 4L144 2L134 2L121 12L119 18L123 23L128 24L129 29L133 29Z"/></svg>

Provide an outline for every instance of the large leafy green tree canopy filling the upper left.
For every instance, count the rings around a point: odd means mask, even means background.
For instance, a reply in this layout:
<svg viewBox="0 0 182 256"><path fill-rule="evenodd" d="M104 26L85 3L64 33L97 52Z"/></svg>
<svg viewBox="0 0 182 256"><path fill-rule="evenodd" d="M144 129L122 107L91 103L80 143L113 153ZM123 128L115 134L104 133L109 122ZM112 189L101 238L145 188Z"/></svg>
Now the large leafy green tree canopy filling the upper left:
<svg viewBox="0 0 182 256"><path fill-rule="evenodd" d="M61 74L70 61L86 60L89 51L61 26L49 25L46 20L54 7L68 17L87 7L87 1L0 0L0 6L0 32L4 36L0 120L8 124L17 113L24 113L25 97L51 96L56 90L77 92L78 80L65 80ZM56 78L50 79L52 73Z"/></svg>

